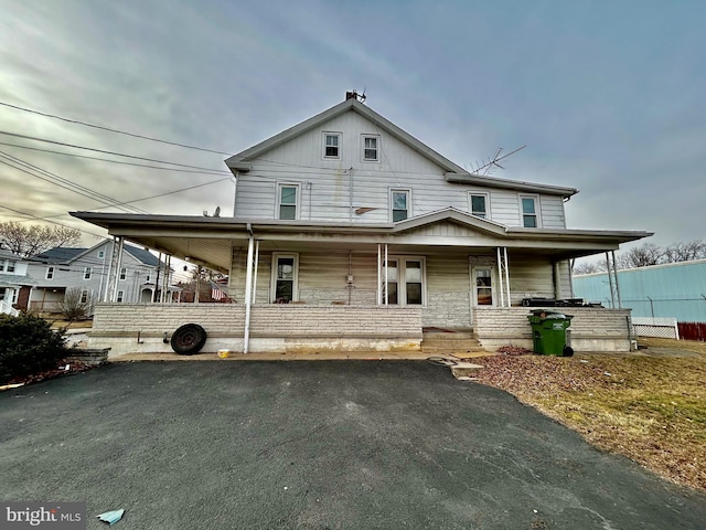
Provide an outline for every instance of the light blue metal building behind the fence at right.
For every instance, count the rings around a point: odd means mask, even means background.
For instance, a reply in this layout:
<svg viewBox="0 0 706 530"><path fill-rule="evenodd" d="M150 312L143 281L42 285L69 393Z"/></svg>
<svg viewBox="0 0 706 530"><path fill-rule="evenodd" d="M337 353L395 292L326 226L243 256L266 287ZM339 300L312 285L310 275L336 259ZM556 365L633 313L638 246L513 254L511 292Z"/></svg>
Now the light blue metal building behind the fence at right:
<svg viewBox="0 0 706 530"><path fill-rule="evenodd" d="M618 290L633 317L706 322L706 259L618 271ZM608 273L574 276L574 296L613 307Z"/></svg>

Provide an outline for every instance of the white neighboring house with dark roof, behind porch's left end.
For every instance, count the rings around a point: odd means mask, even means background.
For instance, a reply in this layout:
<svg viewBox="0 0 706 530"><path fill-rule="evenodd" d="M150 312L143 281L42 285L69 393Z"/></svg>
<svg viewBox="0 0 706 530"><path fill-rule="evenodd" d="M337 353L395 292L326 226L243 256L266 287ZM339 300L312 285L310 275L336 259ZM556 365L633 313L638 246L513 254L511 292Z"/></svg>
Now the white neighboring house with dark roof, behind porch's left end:
<svg viewBox="0 0 706 530"><path fill-rule="evenodd" d="M35 285L29 297L26 309L41 314L60 312L60 304L66 292L82 290L82 300L98 301L108 288L108 272L113 242L104 241L90 248L55 247L31 258L29 275ZM159 298L163 275L168 271L164 262L149 251L125 245L119 271L116 271L119 303L150 303ZM169 280L171 280L171 271ZM167 300L173 299L178 287L168 288Z"/></svg>

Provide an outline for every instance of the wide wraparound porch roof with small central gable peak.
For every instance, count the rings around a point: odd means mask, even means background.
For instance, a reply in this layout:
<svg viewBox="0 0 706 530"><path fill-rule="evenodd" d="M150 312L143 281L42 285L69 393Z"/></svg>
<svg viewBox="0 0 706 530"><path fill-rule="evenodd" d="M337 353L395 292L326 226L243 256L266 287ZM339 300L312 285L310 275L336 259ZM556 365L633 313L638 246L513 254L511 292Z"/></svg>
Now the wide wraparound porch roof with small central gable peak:
<svg viewBox="0 0 706 530"><path fill-rule="evenodd" d="M453 208L397 223L340 223L267 219L205 218L71 212L140 245L179 258L191 258L227 272L233 247L255 235L263 250L370 250L377 244L398 248L448 247L469 251L506 246L509 252L544 254L567 259L617 250L620 244L652 235L641 231L523 229L504 226Z"/></svg>

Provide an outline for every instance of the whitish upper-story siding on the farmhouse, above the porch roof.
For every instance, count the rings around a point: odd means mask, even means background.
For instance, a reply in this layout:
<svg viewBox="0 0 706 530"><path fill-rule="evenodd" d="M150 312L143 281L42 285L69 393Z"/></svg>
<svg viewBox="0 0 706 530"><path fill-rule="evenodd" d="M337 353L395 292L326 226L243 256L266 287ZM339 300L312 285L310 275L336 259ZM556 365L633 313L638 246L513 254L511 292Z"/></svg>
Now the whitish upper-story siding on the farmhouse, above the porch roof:
<svg viewBox="0 0 706 530"><path fill-rule="evenodd" d="M323 157L324 131L342 135L339 159ZM363 135L379 137L379 161L362 159ZM442 168L354 112L340 115L254 160L253 170L238 178L235 215L277 218L278 183L299 184L300 220L388 222L389 190L403 189L411 192L410 216L448 206L470 212L468 192L475 191L489 194L491 220L509 226L521 225L520 193L449 183ZM538 205L543 226L565 227L560 198L541 197ZM373 210L355 213L360 208Z"/></svg>

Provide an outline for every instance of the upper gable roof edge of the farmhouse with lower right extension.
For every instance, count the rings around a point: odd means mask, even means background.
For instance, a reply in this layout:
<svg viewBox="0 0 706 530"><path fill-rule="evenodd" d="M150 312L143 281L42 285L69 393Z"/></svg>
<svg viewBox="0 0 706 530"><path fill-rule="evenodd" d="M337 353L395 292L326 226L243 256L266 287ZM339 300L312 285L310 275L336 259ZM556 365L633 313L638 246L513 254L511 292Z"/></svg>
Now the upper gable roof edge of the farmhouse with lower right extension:
<svg viewBox="0 0 706 530"><path fill-rule="evenodd" d="M576 188L566 188L552 184L535 184L532 182L524 182L518 180L509 180L509 179L498 179L494 177L484 177L480 174L473 174L468 172L466 169L456 165L448 158L438 153L434 149L431 149L426 144L419 141L417 138L406 132L405 130L397 127L395 124L389 121L384 116L381 116L375 110L360 103L355 97L349 98L333 107L324 110L321 114L318 114L289 129L286 129L267 140L260 141L259 144L246 149L244 151L238 152L237 155L232 156L226 159L226 166L233 171L233 173L237 178L238 172L247 173L253 169L253 160L258 158L264 152L279 147L287 141L296 138L299 135L308 132L324 123L333 119L344 113L354 112L360 114L361 116L367 118L373 121L377 127L395 137L397 140L405 144L407 147L411 148L422 157L428 160L435 162L439 167L445 170L445 179L451 183L461 183L461 184L474 184L482 186L489 188L501 188L501 189L511 189L517 191L527 191L535 193L547 193L560 197L571 197L578 193Z"/></svg>

